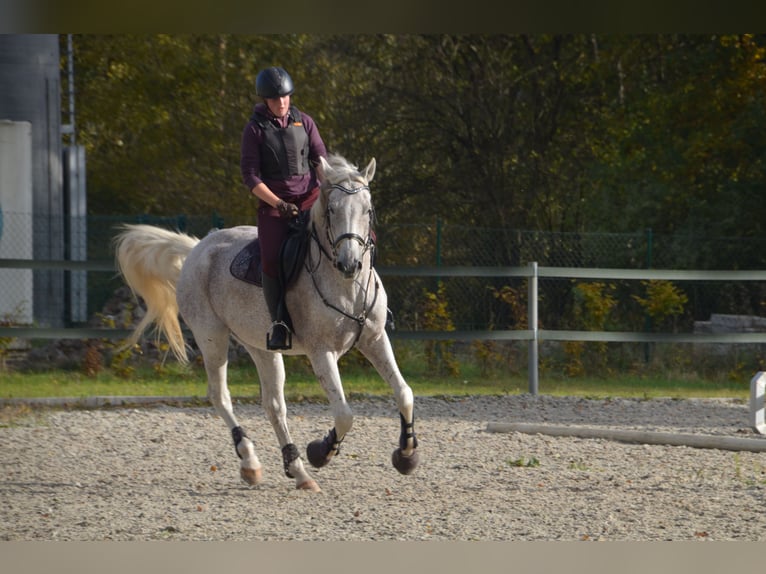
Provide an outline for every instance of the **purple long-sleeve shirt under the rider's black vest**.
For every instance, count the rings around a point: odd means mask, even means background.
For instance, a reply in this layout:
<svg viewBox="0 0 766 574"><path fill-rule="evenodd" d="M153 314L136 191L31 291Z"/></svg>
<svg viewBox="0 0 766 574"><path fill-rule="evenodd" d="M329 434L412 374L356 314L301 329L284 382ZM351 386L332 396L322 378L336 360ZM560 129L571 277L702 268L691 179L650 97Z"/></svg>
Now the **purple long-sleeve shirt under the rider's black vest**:
<svg viewBox="0 0 766 574"><path fill-rule="evenodd" d="M277 118L268 111L266 104L256 104L255 110L272 118L282 128L287 127L287 118ZM240 156L240 170L242 172L242 181L247 186L248 191L252 190L259 183L265 183L269 189L277 196L286 201L295 198L314 189L317 184L315 166L319 163L319 158L327 157L327 148L325 148L319 130L314 123L313 118L301 111L303 125L306 127L306 133L309 136L309 162L311 170L304 175L292 175L287 179L262 179L261 178L261 142L263 135L261 128L253 121L248 122L242 132L242 150Z"/></svg>

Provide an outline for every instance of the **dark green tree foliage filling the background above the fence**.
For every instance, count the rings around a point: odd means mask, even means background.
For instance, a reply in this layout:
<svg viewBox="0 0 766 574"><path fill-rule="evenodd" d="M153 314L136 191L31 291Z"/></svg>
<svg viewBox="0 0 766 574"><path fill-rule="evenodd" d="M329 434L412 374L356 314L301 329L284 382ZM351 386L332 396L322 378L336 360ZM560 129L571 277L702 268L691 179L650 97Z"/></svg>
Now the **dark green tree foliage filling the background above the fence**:
<svg viewBox="0 0 766 574"><path fill-rule="evenodd" d="M763 233L765 45L750 34L76 35L89 209L254 218L239 142L257 71L279 64L329 149L378 159L383 222Z"/></svg>

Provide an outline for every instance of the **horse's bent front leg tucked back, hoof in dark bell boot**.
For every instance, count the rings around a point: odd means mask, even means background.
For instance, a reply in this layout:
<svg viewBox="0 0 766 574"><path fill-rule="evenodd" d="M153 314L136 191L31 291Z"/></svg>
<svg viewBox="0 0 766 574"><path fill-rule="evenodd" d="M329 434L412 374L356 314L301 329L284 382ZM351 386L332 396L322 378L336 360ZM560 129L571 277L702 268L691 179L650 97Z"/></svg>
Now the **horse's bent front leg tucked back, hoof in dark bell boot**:
<svg viewBox="0 0 766 574"><path fill-rule="evenodd" d="M354 424L354 416L343 392L338 357L334 353L323 353L312 355L309 359L319 384L330 401L335 419L335 426L324 438L314 440L306 447L309 462L315 468L321 468L340 452L340 445Z"/></svg>

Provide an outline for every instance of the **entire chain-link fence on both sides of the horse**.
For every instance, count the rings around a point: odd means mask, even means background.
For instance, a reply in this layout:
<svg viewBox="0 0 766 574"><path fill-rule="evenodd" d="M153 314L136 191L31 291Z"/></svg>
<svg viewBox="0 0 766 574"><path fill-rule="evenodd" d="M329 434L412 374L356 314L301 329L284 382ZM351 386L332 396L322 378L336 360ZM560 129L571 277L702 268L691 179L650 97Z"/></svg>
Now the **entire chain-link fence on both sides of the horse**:
<svg viewBox="0 0 766 574"><path fill-rule="evenodd" d="M28 259L35 245L55 241L49 236L28 233L45 229L35 224L29 214L3 214L0 236L0 259ZM50 218L45 216L46 221ZM63 252L70 256L74 244L85 245L88 261L113 259L112 238L121 223L149 223L177 229L202 237L213 228L232 227L253 221L224 220L218 214L167 217L88 216L84 221L61 222L64 232ZM537 262L550 267L604 267L628 269L697 269L731 270L766 268L766 238L710 238L700 236L658 235L650 230L637 233L551 233L489 229L442 223L380 225L377 230L377 266L386 267L518 267ZM78 236L78 234L84 235ZM79 249L79 248L78 248ZM80 249L81 251L81 249ZM47 251L44 251L47 252ZM34 251L36 253L36 250ZM82 254L82 253L81 253ZM38 258L34 255L34 258ZM64 293L51 292L60 306L48 307L71 322L68 297L73 285L87 290L87 316L98 313L112 293L122 285L114 271L52 271L0 268L0 293L22 293L32 297L30 276L46 280L46 273L64 277ZM72 274L79 283L70 281ZM389 306L394 311L397 328L422 330L428 321L428 294L442 287L441 304L457 330L526 328L526 280L494 277L413 277L384 275ZM573 313L576 280L540 281L540 323L546 329L578 328ZM645 295L638 281L611 282L617 311L612 327L641 330L649 327L643 309L636 301ZM694 321L706 320L712 313L760 315L766 300L766 285L760 282L680 282L688 303L672 328L691 331ZM18 298L18 297L16 297ZM2 302L2 299L0 299ZM22 307L26 301L21 301ZM8 321L18 312L18 305L6 302L0 319ZM22 315L23 316L23 315ZM35 314L38 324L55 324L54 317ZM667 328L654 325L651 328Z"/></svg>

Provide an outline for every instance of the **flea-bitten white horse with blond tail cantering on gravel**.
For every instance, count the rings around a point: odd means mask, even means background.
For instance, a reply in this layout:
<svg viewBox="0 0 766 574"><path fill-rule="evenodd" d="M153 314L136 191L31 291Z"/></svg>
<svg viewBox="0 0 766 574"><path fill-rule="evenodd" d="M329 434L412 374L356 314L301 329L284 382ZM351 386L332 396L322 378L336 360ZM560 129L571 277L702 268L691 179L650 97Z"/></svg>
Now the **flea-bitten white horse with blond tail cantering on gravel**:
<svg viewBox="0 0 766 574"><path fill-rule="evenodd" d="M283 354L308 357L331 407L334 426L306 447L313 467L328 464L352 428L354 415L343 391L338 360L354 347L394 394L400 435L392 465L408 475L419 463L414 395L386 332L387 297L373 267L370 182L375 158L363 170L337 154L320 161L319 194L305 214L308 246L285 294L294 329L287 350L266 347L271 318L261 288L229 271L233 258L257 237L257 227L217 229L198 239L152 225L125 224L114 238L118 271L146 307L125 346L135 345L154 326L179 362L188 363L183 320L202 355L208 399L231 433L240 458L240 477L251 486L262 482L263 467L232 408L226 383L230 339L242 345L255 363L261 405L276 433L284 473L295 480L297 489L321 491L290 436Z"/></svg>

